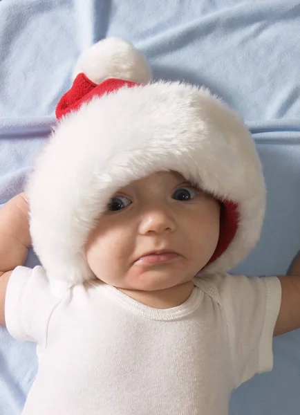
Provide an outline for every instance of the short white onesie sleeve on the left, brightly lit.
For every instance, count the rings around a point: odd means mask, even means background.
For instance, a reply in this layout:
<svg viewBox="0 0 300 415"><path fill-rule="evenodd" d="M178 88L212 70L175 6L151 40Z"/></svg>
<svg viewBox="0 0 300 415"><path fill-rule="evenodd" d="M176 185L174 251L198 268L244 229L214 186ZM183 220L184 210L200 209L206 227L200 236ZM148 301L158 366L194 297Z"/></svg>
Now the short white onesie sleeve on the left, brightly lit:
<svg viewBox="0 0 300 415"><path fill-rule="evenodd" d="M41 266L18 266L6 290L5 319L10 335L17 340L46 342L48 320L59 299L51 293Z"/></svg>

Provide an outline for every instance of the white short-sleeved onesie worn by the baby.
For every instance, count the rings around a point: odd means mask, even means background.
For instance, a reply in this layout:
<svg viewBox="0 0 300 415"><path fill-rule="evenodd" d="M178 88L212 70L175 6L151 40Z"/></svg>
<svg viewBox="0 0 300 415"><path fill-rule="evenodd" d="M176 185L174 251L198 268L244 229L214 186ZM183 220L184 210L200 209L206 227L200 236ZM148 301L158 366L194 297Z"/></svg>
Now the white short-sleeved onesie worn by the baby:
<svg viewBox="0 0 300 415"><path fill-rule="evenodd" d="M41 352L24 414L227 414L232 390L272 369L281 284L228 274L194 284L160 310L95 281L57 299L44 268L17 267L6 324Z"/></svg>

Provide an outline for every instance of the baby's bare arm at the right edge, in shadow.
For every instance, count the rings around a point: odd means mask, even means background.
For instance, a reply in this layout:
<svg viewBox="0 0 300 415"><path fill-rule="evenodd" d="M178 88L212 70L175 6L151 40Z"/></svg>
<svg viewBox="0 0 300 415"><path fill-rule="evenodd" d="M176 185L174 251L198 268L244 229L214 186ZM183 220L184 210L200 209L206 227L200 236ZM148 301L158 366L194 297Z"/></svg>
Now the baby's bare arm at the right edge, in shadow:
<svg viewBox="0 0 300 415"><path fill-rule="evenodd" d="M300 328L300 252L281 282L281 307L274 335Z"/></svg>

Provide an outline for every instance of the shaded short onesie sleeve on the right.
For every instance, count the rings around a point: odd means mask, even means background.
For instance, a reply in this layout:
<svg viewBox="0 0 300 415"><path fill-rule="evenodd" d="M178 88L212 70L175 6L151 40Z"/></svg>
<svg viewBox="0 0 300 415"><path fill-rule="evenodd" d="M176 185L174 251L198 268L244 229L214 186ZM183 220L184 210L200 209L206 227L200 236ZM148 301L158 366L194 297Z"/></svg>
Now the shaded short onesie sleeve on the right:
<svg viewBox="0 0 300 415"><path fill-rule="evenodd" d="M227 322L236 387L273 367L273 333L281 305L277 277L214 277Z"/></svg>

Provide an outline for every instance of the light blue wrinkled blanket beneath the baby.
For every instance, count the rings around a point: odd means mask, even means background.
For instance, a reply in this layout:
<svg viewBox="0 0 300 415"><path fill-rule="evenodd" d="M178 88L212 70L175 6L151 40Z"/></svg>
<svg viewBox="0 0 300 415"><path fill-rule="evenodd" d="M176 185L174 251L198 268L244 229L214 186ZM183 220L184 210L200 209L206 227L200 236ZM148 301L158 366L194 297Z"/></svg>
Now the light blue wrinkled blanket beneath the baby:
<svg viewBox="0 0 300 415"><path fill-rule="evenodd" d="M300 245L300 3L272 1L0 1L0 203L24 188L80 51L125 37L156 77L205 84L242 113L268 185L261 241L234 272L284 274ZM37 259L30 252L28 265ZM238 388L231 415L299 415L300 334L274 340L274 370ZM21 413L35 345L0 330L0 414Z"/></svg>

